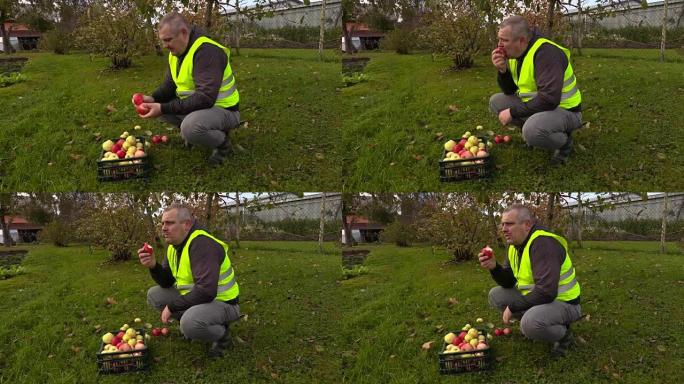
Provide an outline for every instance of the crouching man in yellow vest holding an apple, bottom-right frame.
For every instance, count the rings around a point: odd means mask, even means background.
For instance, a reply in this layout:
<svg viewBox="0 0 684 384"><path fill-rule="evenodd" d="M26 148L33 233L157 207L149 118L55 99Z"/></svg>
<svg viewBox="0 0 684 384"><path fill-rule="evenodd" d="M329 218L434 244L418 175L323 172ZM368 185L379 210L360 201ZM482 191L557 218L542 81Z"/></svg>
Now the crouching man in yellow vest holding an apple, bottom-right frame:
<svg viewBox="0 0 684 384"><path fill-rule="evenodd" d="M489 291L489 303L503 313L504 324L520 319L526 337L553 343L551 355L564 356L574 344L570 323L582 316L567 241L536 224L520 204L503 212L501 228L508 243L503 266L494 257L478 255L499 284Z"/></svg>

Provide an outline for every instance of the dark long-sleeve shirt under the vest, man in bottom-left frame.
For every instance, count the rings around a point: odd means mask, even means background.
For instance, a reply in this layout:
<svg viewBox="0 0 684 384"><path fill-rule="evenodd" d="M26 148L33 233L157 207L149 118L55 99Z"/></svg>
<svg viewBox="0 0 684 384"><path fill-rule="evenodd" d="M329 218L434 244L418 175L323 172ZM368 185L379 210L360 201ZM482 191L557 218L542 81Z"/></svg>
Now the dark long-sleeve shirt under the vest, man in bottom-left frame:
<svg viewBox="0 0 684 384"><path fill-rule="evenodd" d="M200 229L197 224L194 224L190 229L188 237L195 229ZM188 237L181 244L173 246L176 249L178 260L180 260ZM190 244L188 254L190 256L190 267L195 286L188 294L178 297L168 305L171 312L184 311L193 305L209 303L216 298L221 264L225 257L223 247L209 237L198 236ZM179 265L179 262L176 265ZM157 263L154 268L150 269L150 274L154 281L163 288L171 288L176 282L166 255L162 265ZM236 303L237 298L229 302Z"/></svg>

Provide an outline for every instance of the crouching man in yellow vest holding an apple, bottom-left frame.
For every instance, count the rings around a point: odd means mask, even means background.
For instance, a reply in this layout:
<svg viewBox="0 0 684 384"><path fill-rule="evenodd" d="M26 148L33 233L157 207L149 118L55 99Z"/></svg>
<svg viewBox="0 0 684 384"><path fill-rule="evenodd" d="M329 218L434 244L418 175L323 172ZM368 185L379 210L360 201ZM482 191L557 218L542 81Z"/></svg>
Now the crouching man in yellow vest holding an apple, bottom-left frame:
<svg viewBox="0 0 684 384"><path fill-rule="evenodd" d="M159 284L147 291L147 301L161 311L163 323L179 319L186 338L212 342L210 356L220 357L231 345L228 326L240 317L228 245L200 229L182 205L164 211L162 234L169 244L162 265L144 247L138 250Z"/></svg>

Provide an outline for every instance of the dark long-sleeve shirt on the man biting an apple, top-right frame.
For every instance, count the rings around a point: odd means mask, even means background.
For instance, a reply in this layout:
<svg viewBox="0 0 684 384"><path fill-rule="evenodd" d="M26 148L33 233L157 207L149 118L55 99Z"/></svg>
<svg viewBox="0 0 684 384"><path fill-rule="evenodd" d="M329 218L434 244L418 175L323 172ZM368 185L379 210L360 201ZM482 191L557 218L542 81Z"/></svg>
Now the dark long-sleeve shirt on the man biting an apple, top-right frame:
<svg viewBox="0 0 684 384"><path fill-rule="evenodd" d="M535 34L522 56L516 59L518 68L522 68L523 59L539 37L541 36ZM537 96L521 106L511 107L511 117L513 118L529 117L537 112L556 109L560 105L563 77L565 70L568 68L567 56L565 56L565 53L560 48L553 44L542 44L532 59L534 60L534 79L537 83ZM497 73L496 80L501 91L507 95L515 94L518 86L513 81L513 74L510 69L504 73ZM520 71L518 71L519 76ZM579 112L582 110L582 106L578 105L570 110Z"/></svg>

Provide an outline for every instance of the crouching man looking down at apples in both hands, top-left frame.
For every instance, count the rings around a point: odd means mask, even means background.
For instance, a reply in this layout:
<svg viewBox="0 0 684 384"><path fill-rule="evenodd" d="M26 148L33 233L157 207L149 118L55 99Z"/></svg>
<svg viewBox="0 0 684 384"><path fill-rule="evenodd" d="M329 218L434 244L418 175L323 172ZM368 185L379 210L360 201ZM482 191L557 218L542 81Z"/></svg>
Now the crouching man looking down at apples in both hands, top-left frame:
<svg viewBox="0 0 684 384"><path fill-rule="evenodd" d="M152 96L143 96L149 112L141 117L161 116L180 127L186 143L214 148L209 163L219 165L232 152L230 129L240 122L230 50L175 12L159 22L159 39L169 50L169 68Z"/></svg>

